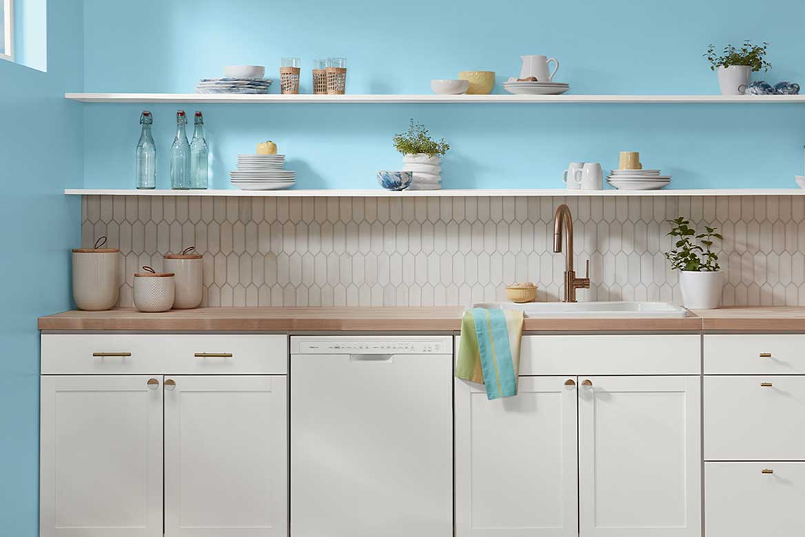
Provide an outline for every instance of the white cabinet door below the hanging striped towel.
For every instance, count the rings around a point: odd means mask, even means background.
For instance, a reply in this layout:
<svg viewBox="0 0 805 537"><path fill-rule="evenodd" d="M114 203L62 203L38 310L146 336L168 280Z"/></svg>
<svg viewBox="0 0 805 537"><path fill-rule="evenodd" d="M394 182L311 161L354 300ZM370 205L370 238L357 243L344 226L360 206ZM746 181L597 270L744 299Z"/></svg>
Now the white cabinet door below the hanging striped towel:
<svg viewBox="0 0 805 537"><path fill-rule="evenodd" d="M492 401L455 386L456 535L577 535L576 378L520 377Z"/></svg>

